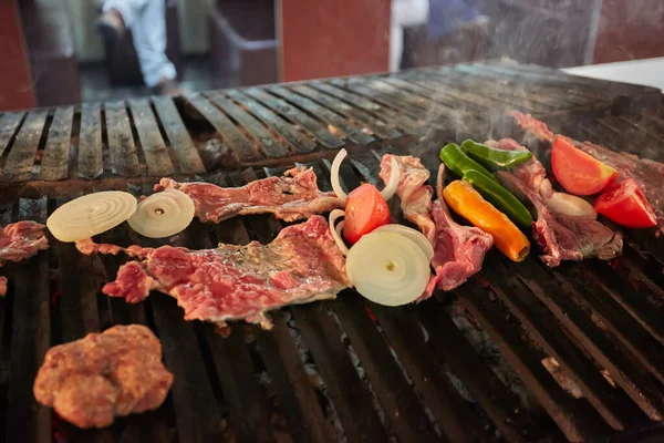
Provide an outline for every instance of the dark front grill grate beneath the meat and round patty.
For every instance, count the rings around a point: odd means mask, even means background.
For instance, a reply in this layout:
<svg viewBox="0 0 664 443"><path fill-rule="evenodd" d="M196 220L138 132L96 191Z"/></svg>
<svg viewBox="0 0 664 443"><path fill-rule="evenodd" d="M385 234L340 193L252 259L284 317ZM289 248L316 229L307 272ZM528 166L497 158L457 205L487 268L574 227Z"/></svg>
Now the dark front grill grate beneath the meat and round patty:
<svg viewBox="0 0 664 443"><path fill-rule="evenodd" d="M372 150L354 155L342 167L344 184L375 183L378 158ZM424 161L437 165L435 155ZM329 162L309 165L329 189ZM206 177L238 186L282 171ZM149 186L128 190L149 193ZM6 204L1 222L43 220L68 198ZM196 222L170 241L191 248L269 241L281 227L268 216ZM104 237L146 244L126 226ZM533 257L512 264L489 254L478 276L416 307L384 308L346 290L333 301L273 312L269 332L232 324L228 339L211 324L185 321L167 296L133 306L103 296L101 285L123 258L86 257L53 241L27 264L6 268L1 431L7 441L66 442L661 436L664 286L643 265L661 270L664 249L644 255L637 241L611 264L588 260L553 271ZM32 382L50 346L132 322L155 330L175 374L159 410L80 431L35 403Z"/></svg>

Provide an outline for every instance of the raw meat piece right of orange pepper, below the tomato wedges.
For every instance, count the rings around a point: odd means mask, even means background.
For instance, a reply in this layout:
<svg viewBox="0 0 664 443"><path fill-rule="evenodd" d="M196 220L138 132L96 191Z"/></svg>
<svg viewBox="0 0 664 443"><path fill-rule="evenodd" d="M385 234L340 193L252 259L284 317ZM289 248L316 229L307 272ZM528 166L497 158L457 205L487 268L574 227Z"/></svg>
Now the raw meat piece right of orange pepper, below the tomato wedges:
<svg viewBox="0 0 664 443"><path fill-rule="evenodd" d="M620 233L596 220L554 214L526 182L505 171L496 173L496 176L513 194L527 198L535 206L537 222L532 223L532 235L543 251L540 258L547 266L553 268L561 260L578 261L588 257L609 260L622 251Z"/></svg>

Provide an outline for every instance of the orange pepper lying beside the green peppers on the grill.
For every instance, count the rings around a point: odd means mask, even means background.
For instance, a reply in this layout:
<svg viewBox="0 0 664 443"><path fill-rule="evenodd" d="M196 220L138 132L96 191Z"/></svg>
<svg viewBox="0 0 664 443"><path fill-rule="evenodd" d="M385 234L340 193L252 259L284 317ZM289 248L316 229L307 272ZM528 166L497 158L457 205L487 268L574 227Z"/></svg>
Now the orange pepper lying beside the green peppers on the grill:
<svg viewBox="0 0 664 443"><path fill-rule="evenodd" d="M530 241L505 214L499 212L468 182L452 182L443 190L447 205L458 215L494 237L494 245L512 261L523 261Z"/></svg>

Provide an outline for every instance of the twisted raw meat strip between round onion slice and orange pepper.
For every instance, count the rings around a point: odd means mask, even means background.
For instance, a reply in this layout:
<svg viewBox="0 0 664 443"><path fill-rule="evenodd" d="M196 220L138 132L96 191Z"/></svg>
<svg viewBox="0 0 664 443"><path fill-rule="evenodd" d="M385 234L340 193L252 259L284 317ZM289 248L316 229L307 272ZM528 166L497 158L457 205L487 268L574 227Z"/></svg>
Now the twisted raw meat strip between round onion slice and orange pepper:
<svg viewBox="0 0 664 443"><path fill-rule="evenodd" d="M429 171L421 159L413 156L394 156L401 168L396 194L406 219L417 225L434 246L432 266L435 269L425 292L417 301L426 300L436 287L453 290L463 285L481 268L485 254L494 239L479 228L457 224L447 209L445 200L432 203L433 189L426 185ZM381 162L380 176L390 181L392 155L385 154ZM443 186L444 166L438 173L438 188ZM440 197L440 192L438 192Z"/></svg>

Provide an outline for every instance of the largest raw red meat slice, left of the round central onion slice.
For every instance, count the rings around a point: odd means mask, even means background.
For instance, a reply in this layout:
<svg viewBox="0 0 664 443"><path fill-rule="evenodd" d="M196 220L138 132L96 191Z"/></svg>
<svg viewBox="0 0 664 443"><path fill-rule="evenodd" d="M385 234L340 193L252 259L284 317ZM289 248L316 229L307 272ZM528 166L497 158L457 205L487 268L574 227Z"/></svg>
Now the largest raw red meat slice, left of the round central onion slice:
<svg viewBox="0 0 664 443"><path fill-rule="evenodd" d="M103 292L139 302L158 290L177 299L187 320L245 319L269 329L266 311L331 299L349 287L345 259L321 216L286 227L269 245L162 246L139 255L139 261L120 268Z"/></svg>

